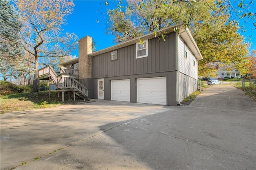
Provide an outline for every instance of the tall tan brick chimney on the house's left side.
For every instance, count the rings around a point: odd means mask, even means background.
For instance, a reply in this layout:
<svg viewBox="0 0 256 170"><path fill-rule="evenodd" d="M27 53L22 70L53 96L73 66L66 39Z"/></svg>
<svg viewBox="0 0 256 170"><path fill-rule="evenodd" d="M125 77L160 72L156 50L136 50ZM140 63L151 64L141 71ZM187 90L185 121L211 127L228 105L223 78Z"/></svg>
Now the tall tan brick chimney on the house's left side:
<svg viewBox="0 0 256 170"><path fill-rule="evenodd" d="M78 69L79 76L81 79L92 78L92 57L88 56L92 52L92 37L85 36L78 40L79 46L79 58L78 58Z"/></svg>

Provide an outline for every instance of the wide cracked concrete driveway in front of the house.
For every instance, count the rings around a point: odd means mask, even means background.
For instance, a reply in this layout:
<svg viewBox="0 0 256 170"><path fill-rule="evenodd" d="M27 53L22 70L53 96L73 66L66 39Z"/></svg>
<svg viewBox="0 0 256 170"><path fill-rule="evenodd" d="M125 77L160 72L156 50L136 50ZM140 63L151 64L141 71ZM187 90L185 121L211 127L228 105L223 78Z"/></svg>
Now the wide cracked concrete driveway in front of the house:
<svg viewBox="0 0 256 170"><path fill-rule="evenodd" d="M1 170L256 169L255 132L256 103L233 86L190 106L97 100L1 114Z"/></svg>

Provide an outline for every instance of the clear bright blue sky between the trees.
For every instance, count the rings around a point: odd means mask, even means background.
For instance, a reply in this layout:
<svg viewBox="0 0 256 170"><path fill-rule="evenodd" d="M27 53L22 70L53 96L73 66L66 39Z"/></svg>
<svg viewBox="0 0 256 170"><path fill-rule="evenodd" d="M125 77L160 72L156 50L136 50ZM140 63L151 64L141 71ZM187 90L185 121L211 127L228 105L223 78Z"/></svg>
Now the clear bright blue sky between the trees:
<svg viewBox="0 0 256 170"><path fill-rule="evenodd" d="M67 25L63 26L64 32L74 32L78 38L90 36L96 41L96 51L115 45L114 36L107 34L107 10L114 9L115 2L108 0L106 6L104 0L74 0L74 12L68 16ZM122 1L123 5L126 1ZM246 1L245 1L246 2ZM256 11L256 1L251 5L252 11ZM255 21L254 21L255 22ZM244 24L243 20L240 24ZM251 24L245 24L246 32L242 32L246 41L251 43L250 51L256 50L256 30ZM252 35L251 40L248 36ZM78 49L73 55L78 57Z"/></svg>

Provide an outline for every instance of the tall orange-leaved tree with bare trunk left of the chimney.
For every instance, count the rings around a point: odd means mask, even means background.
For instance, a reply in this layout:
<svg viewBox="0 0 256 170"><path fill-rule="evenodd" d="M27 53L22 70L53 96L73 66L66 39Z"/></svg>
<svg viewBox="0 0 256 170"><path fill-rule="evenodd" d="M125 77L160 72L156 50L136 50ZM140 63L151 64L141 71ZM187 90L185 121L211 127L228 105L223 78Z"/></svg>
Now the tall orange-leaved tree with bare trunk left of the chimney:
<svg viewBox="0 0 256 170"><path fill-rule="evenodd" d="M39 58L68 56L77 46L74 33L63 33L61 26L73 12L72 1L17 0L23 21L22 40L25 50L34 57L33 92L38 90Z"/></svg>

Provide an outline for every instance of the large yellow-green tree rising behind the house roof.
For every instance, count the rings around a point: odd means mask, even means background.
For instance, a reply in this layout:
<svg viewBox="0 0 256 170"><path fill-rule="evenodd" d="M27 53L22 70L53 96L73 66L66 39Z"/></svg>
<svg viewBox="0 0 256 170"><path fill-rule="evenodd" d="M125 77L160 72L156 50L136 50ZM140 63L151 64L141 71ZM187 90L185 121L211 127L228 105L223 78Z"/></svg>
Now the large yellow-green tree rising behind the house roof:
<svg viewBox="0 0 256 170"><path fill-rule="evenodd" d="M230 1L128 1L126 8L121 6L121 2L116 9L108 11L108 32L115 36L115 42L124 42L184 22L204 58L199 61L199 75L212 76L222 64L232 64L240 72L246 71L249 44L238 33L237 20L230 20ZM240 14L240 18L255 16L252 12L236 14Z"/></svg>

